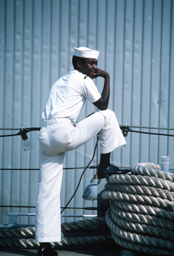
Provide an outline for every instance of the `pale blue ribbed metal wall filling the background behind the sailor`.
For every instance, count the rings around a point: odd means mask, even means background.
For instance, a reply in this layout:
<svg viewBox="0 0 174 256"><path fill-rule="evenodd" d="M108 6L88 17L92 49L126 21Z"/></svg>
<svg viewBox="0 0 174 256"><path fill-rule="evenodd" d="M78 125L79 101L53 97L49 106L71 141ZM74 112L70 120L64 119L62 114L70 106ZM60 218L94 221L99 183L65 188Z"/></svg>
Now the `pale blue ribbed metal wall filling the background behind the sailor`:
<svg viewBox="0 0 174 256"><path fill-rule="evenodd" d="M98 67L110 73L109 108L119 124L174 127L172 0L1 0L1 128L41 126L48 91L58 78L73 69L74 47L80 46L100 51ZM101 92L102 78L95 83ZM78 120L94 109L86 102ZM16 131L0 131L1 135L9 133ZM0 168L39 168L38 132L28 135L34 149L27 152L23 151L19 136L0 138ZM96 138L68 152L64 167L86 166L95 143ZM161 155L169 155L170 167L174 168L173 152L173 137L129 133L126 148L115 149L111 160L117 166L130 166L159 163ZM95 164L96 158L91 165ZM64 170L61 206L71 198L82 171ZM94 173L95 170L86 170L70 207L96 206L96 202L82 199ZM0 204L34 206L38 180L39 171L0 170ZM1 223L8 223L8 212L32 213L34 209L0 208ZM96 212L64 211L82 213ZM19 221L31 224L34 217L21 217Z"/></svg>

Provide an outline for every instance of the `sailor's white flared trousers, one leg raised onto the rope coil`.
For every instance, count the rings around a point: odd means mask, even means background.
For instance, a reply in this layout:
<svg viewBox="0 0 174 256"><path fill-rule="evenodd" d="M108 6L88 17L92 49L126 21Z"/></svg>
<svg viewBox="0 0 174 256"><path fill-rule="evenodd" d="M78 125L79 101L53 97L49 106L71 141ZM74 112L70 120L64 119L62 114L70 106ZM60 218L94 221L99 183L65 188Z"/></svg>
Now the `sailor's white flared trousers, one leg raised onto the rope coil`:
<svg viewBox="0 0 174 256"><path fill-rule="evenodd" d="M96 112L72 123L68 118L44 121L39 132L40 182L36 201L36 242L61 241L60 190L65 152L82 146L99 132L100 153L125 144L113 111Z"/></svg>

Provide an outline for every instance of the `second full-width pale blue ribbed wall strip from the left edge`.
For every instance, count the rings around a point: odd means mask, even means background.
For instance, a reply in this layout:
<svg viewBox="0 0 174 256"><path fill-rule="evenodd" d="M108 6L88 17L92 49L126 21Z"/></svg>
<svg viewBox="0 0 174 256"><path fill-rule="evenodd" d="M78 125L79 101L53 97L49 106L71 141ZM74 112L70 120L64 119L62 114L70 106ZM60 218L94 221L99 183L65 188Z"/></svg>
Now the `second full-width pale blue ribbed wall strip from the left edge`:
<svg viewBox="0 0 174 256"><path fill-rule="evenodd" d="M23 61L23 3L21 1L15 2L15 23L14 23L14 81L13 81L13 101L12 101L12 126L21 126L21 113L22 113L22 61ZM15 131L14 133L16 133ZM11 145L11 168L20 168L20 151L21 151L21 138L19 136L12 137ZM10 171L5 171L10 172ZM10 194L10 205L18 205L20 198L20 172L19 170L11 171L11 188L13 193ZM10 209L11 211L11 209ZM15 209L15 212L17 209Z"/></svg>

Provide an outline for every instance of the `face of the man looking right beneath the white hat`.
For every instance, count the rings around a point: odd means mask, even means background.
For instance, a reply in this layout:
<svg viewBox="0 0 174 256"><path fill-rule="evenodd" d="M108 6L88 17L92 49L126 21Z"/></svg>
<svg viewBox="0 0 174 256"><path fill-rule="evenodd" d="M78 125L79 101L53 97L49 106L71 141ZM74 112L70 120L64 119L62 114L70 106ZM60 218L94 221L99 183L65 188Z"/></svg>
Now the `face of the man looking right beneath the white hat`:
<svg viewBox="0 0 174 256"><path fill-rule="evenodd" d="M90 78L94 78L93 74L97 72L97 60L86 58L85 62L81 63L80 72Z"/></svg>

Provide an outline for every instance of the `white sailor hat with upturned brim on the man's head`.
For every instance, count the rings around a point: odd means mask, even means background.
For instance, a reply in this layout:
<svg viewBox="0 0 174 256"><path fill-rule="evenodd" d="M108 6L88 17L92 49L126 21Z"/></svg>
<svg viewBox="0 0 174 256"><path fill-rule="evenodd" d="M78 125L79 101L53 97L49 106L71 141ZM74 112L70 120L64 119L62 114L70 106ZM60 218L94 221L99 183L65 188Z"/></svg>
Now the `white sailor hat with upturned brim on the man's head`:
<svg viewBox="0 0 174 256"><path fill-rule="evenodd" d="M74 56L82 57L82 58L91 58L91 59L97 59L99 56L99 51L91 50L86 47L74 47Z"/></svg>

